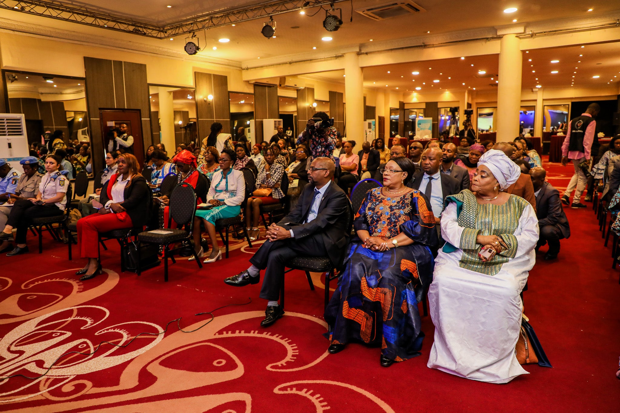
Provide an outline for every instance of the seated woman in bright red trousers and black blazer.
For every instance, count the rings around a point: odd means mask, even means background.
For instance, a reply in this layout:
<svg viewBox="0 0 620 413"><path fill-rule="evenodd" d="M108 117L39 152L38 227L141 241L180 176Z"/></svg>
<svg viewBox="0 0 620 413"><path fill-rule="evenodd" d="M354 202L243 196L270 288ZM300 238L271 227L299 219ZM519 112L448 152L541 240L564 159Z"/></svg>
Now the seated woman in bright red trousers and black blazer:
<svg viewBox="0 0 620 413"><path fill-rule="evenodd" d="M97 214L78 220L80 257L87 258L86 266L76 272L80 280L102 274L99 262L99 233L122 228L142 228L148 220L149 186L140 175L138 159L132 154L118 155L117 173L101 190L104 205Z"/></svg>

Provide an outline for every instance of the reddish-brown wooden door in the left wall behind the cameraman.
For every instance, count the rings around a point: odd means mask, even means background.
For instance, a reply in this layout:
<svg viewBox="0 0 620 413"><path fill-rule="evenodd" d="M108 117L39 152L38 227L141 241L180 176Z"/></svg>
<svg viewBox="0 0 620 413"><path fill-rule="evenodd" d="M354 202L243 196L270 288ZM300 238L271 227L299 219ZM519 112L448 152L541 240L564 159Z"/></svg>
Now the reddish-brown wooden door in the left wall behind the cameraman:
<svg viewBox="0 0 620 413"><path fill-rule="evenodd" d="M144 139L142 136L142 120L139 109L103 109L99 111L101 120L101 141L104 142L104 152L108 150L108 132L120 124L127 125L127 133L133 136L133 154L138 158L140 167L144 164ZM172 153L174 154L172 148ZM170 148L166 148L170 151Z"/></svg>

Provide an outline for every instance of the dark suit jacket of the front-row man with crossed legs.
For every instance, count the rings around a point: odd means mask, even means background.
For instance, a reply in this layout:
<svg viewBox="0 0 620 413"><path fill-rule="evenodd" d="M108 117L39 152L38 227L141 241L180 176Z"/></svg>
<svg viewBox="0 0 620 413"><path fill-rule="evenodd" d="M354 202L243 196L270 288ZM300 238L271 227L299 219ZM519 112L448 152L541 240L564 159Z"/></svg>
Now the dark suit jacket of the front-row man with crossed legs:
<svg viewBox="0 0 620 413"><path fill-rule="evenodd" d="M308 217L313 198L314 185L306 185L295 208L278 225L293 230L296 240L308 235L321 235L329 259L339 267L344 260L350 237L347 233L348 224L353 220L352 216L345 219L350 215L350 202L344 191L332 181L323 194L316 219L301 224ZM289 226L287 222L300 225ZM308 255L312 256L312 251L308 251Z"/></svg>

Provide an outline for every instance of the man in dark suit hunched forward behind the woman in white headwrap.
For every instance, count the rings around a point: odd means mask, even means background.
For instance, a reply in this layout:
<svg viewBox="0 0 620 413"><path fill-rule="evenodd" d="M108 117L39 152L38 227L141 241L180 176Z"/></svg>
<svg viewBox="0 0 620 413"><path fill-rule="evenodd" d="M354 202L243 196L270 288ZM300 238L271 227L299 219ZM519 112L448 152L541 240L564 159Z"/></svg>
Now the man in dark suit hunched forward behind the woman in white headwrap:
<svg viewBox="0 0 620 413"><path fill-rule="evenodd" d="M540 230L536 250L548 243L549 250L544 259L556 259L560 252L560 240L570 237L569 220L566 219L566 214L562 209L559 191L545 181L547 172L541 167L536 167L529 170L529 175L534 185L536 217L538 217Z"/></svg>

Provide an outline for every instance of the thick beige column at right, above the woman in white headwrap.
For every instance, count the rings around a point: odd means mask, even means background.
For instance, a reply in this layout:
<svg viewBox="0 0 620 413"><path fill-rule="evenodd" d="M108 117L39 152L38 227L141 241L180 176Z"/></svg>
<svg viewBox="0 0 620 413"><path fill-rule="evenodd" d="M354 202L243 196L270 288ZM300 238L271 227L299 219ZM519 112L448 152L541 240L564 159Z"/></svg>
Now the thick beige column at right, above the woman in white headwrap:
<svg viewBox="0 0 620 413"><path fill-rule="evenodd" d="M497 85L497 142L508 142L519 135L521 107L521 65L523 57L516 35L500 40L499 83Z"/></svg>

